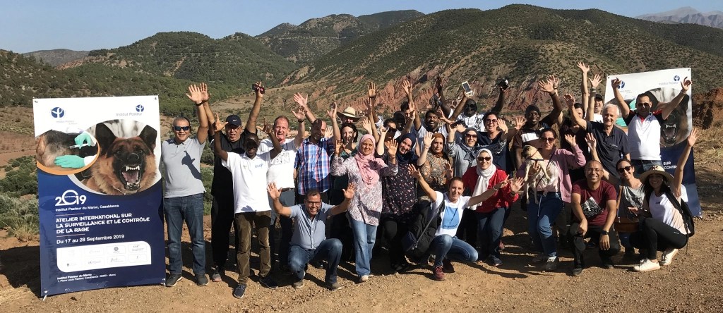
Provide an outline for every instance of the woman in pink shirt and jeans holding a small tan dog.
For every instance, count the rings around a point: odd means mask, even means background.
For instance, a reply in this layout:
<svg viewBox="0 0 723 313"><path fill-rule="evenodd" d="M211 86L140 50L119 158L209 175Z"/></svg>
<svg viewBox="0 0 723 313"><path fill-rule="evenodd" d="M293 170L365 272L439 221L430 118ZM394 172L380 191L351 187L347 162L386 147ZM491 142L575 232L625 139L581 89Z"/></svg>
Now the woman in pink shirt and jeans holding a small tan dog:
<svg viewBox="0 0 723 313"><path fill-rule="evenodd" d="M544 128L540 131L540 147L538 149L542 159L534 162L534 169L530 171L529 177L534 177L539 170L549 174L549 178L543 177L526 186L528 192L527 220L529 221L528 232L532 237L538 255L532 259L532 263L545 262L545 270L557 269L557 246L555 237L552 236L552 222L562 211L564 203L570 203L570 193L573 188L570 182L569 169L576 169L585 165L585 156L575 142L575 137L565 135L573 152L565 149L557 149L555 141L557 133L552 128ZM526 160L527 161L527 160ZM518 177L523 177L526 162L517 170ZM534 190L532 189L534 188ZM536 193L529 193L530 190Z"/></svg>

